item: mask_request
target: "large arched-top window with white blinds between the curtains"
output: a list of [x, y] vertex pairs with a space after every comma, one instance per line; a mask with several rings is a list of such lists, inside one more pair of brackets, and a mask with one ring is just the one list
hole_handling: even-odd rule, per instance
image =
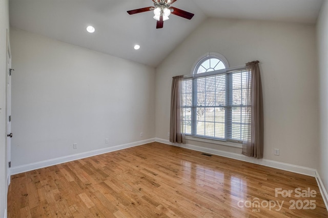
[[248, 120], [250, 72], [229, 71], [222, 60], [202, 59], [181, 84], [182, 131], [186, 135], [242, 141]]

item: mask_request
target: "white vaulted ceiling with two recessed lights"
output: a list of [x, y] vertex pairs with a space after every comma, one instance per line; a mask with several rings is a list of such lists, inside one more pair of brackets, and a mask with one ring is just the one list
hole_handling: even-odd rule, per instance
[[[177, 0], [172, 6], [194, 13], [170, 15], [156, 29], [152, 0], [10, 0], [10, 25], [50, 38], [156, 67], [208, 17], [316, 23], [323, 0]], [[92, 25], [90, 34], [86, 27]], [[206, 34], [206, 33], [204, 33]], [[139, 44], [139, 50], [133, 46]]]

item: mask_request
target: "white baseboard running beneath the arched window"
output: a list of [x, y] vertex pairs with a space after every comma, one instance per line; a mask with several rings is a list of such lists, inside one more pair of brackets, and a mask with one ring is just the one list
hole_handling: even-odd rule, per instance
[[236, 159], [236, 160], [255, 163], [255, 164], [259, 164], [259, 165], [263, 165], [263, 166], [269, 166], [269, 167], [273, 167], [273, 168], [277, 168], [277, 169], [283, 169], [284, 171], [290, 171], [293, 173], [308, 175], [308, 176], [312, 176], [312, 177], [316, 176], [316, 169], [313, 169], [313, 168], [293, 165], [293, 164], [289, 164], [289, 163], [282, 163], [282, 162], [267, 160], [267, 159], [255, 159], [255, 158], [244, 156], [242, 154], [236, 154], [236, 153], [232, 153], [232, 152], [225, 152], [225, 151], [220, 151], [220, 150], [216, 150], [216, 149], [194, 146], [193, 144], [177, 144], [177, 143], [172, 143], [169, 140], [161, 139], [161, 138], [155, 138], [155, 141], [165, 143], [165, 144], [170, 144], [172, 146], [176, 146], [176, 147], [180, 147], [180, 148], [186, 148], [186, 149], [190, 149], [190, 150], [194, 150], [194, 151], [205, 152], [205, 153], [214, 154], [214, 155], [218, 155], [218, 156], [222, 156], [222, 157], [228, 157], [228, 158], [232, 158], [232, 159]]

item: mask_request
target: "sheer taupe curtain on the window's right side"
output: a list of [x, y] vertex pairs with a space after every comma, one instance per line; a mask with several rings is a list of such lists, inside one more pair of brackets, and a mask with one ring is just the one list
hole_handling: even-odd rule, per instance
[[247, 140], [243, 141], [242, 154], [257, 159], [263, 158], [263, 96], [260, 77], [259, 61], [252, 61], [246, 64], [247, 70], [250, 72], [249, 85], [251, 86], [248, 94], [248, 101], [251, 105], [247, 109], [248, 117], [251, 122], [251, 128], [245, 128], [244, 133], [248, 135]]

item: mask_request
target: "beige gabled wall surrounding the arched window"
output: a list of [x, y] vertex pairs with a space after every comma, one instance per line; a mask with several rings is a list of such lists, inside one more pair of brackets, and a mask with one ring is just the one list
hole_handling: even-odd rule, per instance
[[[172, 76], [189, 75], [208, 52], [230, 66], [259, 60], [264, 100], [264, 159], [316, 168], [318, 96], [315, 26], [210, 18], [156, 68], [156, 137], [168, 139]], [[239, 148], [187, 141], [241, 153]], [[280, 149], [280, 156], [274, 149]]]

